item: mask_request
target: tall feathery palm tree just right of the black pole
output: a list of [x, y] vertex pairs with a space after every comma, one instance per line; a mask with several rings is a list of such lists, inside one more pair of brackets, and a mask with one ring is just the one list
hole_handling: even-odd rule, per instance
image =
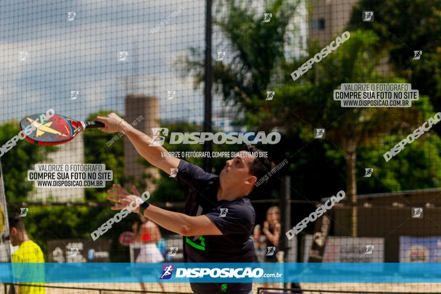
[[[213, 24], [231, 41], [226, 52], [226, 60], [231, 62], [212, 63], [213, 86], [238, 110], [250, 111], [256, 102], [262, 101], [266, 97], [262, 90], [267, 89], [274, 74], [286, 63], [285, 44], [290, 43], [287, 27], [298, 4], [299, 1], [265, 1], [265, 11], [271, 12], [272, 18], [263, 23], [264, 15], [257, 13], [253, 1], [219, 2]], [[190, 48], [190, 55], [180, 63], [183, 75], [194, 75], [195, 88], [203, 83], [205, 65], [201, 51]]]

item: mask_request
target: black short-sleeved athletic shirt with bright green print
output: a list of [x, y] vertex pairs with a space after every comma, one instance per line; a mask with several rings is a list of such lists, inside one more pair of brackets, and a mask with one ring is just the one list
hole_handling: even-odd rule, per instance
[[[184, 212], [206, 215], [223, 235], [183, 237], [186, 262], [254, 262], [254, 243], [250, 238], [256, 213], [250, 199], [217, 201], [219, 176], [180, 160], [176, 179], [190, 189]], [[225, 210], [228, 209], [228, 211]], [[220, 216], [222, 213], [222, 217]], [[248, 294], [252, 283], [190, 283], [197, 294]]]

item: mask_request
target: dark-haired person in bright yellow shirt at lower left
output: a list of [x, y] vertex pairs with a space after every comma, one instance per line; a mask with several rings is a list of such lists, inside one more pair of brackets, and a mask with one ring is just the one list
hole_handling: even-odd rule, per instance
[[[9, 217], [9, 235], [11, 244], [19, 246], [19, 249], [12, 254], [12, 262], [38, 262], [42, 266], [26, 266], [14, 267], [14, 276], [20, 280], [23, 271], [26, 270], [26, 276], [32, 278], [44, 277], [44, 262], [43, 252], [39, 245], [34, 243], [26, 232], [25, 224], [18, 213], [12, 214]], [[30, 272], [31, 271], [31, 272]], [[33, 285], [44, 285], [44, 283], [30, 283]], [[45, 294], [45, 287], [33, 287], [27, 285], [19, 285], [17, 287], [18, 294]]]

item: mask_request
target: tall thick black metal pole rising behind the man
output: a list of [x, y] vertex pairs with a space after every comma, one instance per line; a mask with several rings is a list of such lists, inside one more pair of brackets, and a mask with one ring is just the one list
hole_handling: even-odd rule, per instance
[[[205, 109], [204, 109], [204, 132], [211, 132], [211, 0], [206, 0], [205, 13]], [[212, 142], [208, 141], [203, 144], [203, 151], [209, 152], [213, 150]], [[207, 172], [211, 172], [211, 157], [203, 157], [203, 168]]]

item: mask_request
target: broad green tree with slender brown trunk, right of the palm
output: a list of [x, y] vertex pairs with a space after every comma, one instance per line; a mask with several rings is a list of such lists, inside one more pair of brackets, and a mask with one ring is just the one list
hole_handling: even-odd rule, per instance
[[[320, 63], [314, 64], [297, 83], [287, 83], [277, 90], [278, 103], [272, 107], [262, 104], [258, 112], [250, 113], [254, 121], [263, 117], [262, 124], [289, 129], [293, 122], [303, 126], [301, 137], [313, 140], [312, 129], [324, 127], [327, 143], [334, 145], [343, 153], [346, 165], [347, 199], [356, 202], [357, 198], [357, 148], [378, 142], [383, 134], [397, 132], [403, 125], [422, 122], [434, 112], [426, 97], [414, 102], [411, 111], [399, 108], [342, 108], [340, 102], [333, 100], [333, 91], [342, 83], [403, 83], [401, 79], [382, 77], [375, 72], [378, 66], [378, 53], [371, 50], [378, 38], [372, 32], [351, 33], [343, 48], [333, 52]], [[309, 52], [320, 52], [313, 45]], [[312, 55], [303, 62], [312, 58]], [[383, 150], [383, 153], [387, 151]], [[358, 162], [359, 163], [359, 162]], [[359, 163], [360, 164], [360, 163]], [[353, 211], [353, 232], [356, 236], [356, 209]]]

